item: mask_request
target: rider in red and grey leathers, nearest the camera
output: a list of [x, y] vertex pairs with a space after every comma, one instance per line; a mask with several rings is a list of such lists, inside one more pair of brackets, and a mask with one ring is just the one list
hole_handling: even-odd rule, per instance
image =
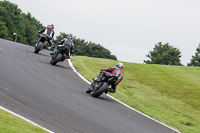
[[99, 77], [101, 77], [101, 75], [110, 75], [110, 76], [115, 76], [117, 78], [115, 83], [111, 84], [111, 88], [108, 88], [107, 92], [105, 92], [106, 94], [109, 92], [111, 93], [115, 93], [116, 89], [117, 89], [117, 85], [122, 81], [123, 77], [124, 77], [124, 64], [121, 62], [118, 62], [116, 64], [116, 66], [112, 66], [109, 68], [104, 68], [101, 69], [100, 74], [93, 80], [91, 86], [88, 88], [88, 90], [86, 91], [87, 93], [90, 93], [93, 91], [93, 87], [94, 87], [94, 82], [96, 80], [98, 80]]

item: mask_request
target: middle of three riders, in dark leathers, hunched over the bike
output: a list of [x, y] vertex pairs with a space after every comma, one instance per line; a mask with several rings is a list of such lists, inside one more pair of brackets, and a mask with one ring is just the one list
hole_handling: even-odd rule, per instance
[[[58, 49], [59, 49], [60, 47], [64, 46], [65, 43], [71, 45], [70, 55], [73, 55], [73, 54], [74, 54], [74, 43], [73, 43], [73, 40], [72, 40], [72, 37], [71, 37], [71, 36], [68, 36], [67, 38], [64, 38], [64, 39], [62, 39], [60, 42], [58, 42], [58, 43], [56, 44], [56, 46], [55, 46], [54, 52], [53, 52], [53, 53], [50, 53], [50, 55], [56, 54], [56, 52], [58, 51]], [[68, 52], [67, 59], [70, 58], [70, 55], [69, 55], [69, 52]]]

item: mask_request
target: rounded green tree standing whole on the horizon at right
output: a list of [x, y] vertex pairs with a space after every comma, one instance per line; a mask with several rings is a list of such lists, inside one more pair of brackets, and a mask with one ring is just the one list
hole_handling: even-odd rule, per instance
[[146, 55], [150, 60], [144, 62], [146, 64], [181, 65], [180, 54], [179, 49], [170, 46], [168, 43], [163, 45], [159, 42], [155, 45], [153, 51]]

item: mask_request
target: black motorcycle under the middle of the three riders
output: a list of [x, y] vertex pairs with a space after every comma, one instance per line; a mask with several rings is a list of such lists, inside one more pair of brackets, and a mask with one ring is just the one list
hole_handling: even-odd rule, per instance
[[56, 65], [58, 62], [63, 62], [66, 58], [69, 59], [69, 51], [71, 49], [71, 44], [64, 44], [57, 48], [57, 51], [52, 54], [50, 63]]

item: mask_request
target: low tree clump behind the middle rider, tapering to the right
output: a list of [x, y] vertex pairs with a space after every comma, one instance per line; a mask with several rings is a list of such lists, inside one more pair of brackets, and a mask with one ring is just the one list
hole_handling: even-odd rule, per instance
[[104, 48], [102, 45], [92, 42], [85, 42], [85, 40], [76, 38], [71, 34], [60, 33], [60, 35], [56, 37], [56, 40], [54, 40], [54, 43], [57, 44], [59, 41], [61, 41], [63, 38], [67, 38], [69, 35], [73, 37], [76, 55], [117, 60], [117, 57], [115, 55], [111, 55], [110, 50]]

